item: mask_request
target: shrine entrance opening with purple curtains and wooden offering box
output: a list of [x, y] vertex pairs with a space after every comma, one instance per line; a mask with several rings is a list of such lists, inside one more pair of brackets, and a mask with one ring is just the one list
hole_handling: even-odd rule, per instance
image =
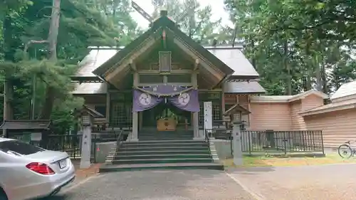
[[198, 90], [194, 87], [156, 85], [135, 88], [133, 111], [138, 112], [139, 129], [156, 127], [157, 131], [189, 129], [192, 112], [199, 112]]

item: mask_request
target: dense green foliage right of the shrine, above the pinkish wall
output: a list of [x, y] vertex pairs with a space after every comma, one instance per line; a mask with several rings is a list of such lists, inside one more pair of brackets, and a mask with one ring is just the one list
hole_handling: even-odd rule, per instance
[[311, 88], [330, 93], [355, 80], [355, 3], [225, 0], [246, 56], [274, 95]]

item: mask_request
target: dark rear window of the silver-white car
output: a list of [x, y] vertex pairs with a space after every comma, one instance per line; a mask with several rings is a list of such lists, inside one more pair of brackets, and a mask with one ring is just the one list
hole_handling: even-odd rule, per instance
[[29, 155], [43, 152], [44, 149], [18, 140], [7, 140], [0, 142], [0, 151], [15, 155]]

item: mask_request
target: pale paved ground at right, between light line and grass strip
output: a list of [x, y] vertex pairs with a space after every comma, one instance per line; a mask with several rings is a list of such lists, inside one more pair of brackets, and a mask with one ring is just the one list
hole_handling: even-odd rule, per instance
[[[356, 164], [230, 169], [244, 188], [262, 199], [354, 199]], [[356, 197], [355, 197], [356, 199]]]

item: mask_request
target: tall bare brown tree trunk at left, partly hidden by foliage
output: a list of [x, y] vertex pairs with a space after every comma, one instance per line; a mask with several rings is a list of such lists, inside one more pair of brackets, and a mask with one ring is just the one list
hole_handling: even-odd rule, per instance
[[[48, 33], [48, 60], [53, 63], [57, 61], [57, 36], [59, 28], [59, 18], [61, 11], [61, 0], [53, 0], [52, 14], [51, 14], [51, 24]], [[51, 117], [51, 112], [53, 110], [53, 102], [56, 95], [55, 88], [51, 85], [47, 85], [46, 88], [46, 99], [41, 112], [42, 120], [49, 120]]]

